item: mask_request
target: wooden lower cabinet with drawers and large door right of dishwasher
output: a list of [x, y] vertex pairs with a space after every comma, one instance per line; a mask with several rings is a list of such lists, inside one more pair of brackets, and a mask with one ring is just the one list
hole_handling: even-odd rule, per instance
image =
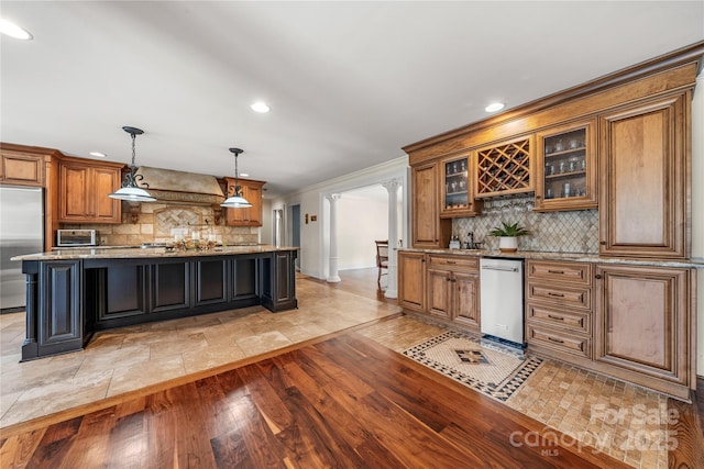
[[694, 277], [685, 268], [528, 260], [529, 348], [689, 400]]

